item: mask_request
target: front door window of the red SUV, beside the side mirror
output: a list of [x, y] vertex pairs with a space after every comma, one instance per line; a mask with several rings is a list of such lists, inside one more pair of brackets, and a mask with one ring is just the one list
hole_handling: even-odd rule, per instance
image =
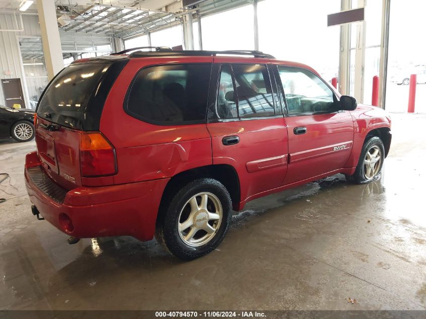
[[334, 111], [333, 91], [308, 70], [278, 67], [288, 113]]

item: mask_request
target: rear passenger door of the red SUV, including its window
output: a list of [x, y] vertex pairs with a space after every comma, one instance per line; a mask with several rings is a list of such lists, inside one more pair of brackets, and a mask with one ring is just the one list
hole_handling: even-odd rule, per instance
[[265, 61], [226, 63], [228, 59], [215, 57], [207, 129], [213, 164], [235, 168], [245, 201], [281, 186], [287, 170], [287, 128]]

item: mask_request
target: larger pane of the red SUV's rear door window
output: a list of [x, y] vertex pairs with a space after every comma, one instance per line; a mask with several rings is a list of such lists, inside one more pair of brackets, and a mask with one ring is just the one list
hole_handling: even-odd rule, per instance
[[264, 65], [232, 65], [240, 117], [274, 115], [271, 82]]

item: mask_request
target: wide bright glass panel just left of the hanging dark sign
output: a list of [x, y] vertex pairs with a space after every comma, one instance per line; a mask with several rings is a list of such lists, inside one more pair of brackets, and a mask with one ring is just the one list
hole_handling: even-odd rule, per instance
[[259, 2], [259, 49], [306, 63], [331, 81], [339, 72], [340, 28], [327, 27], [327, 15], [339, 11], [340, 0]]

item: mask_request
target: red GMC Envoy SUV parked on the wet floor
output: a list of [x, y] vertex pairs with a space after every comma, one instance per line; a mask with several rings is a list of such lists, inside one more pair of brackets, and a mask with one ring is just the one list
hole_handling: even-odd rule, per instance
[[231, 210], [343, 173], [377, 179], [385, 111], [259, 51], [126, 51], [74, 61], [37, 107], [33, 214], [76, 239], [131, 235], [194, 259]]

